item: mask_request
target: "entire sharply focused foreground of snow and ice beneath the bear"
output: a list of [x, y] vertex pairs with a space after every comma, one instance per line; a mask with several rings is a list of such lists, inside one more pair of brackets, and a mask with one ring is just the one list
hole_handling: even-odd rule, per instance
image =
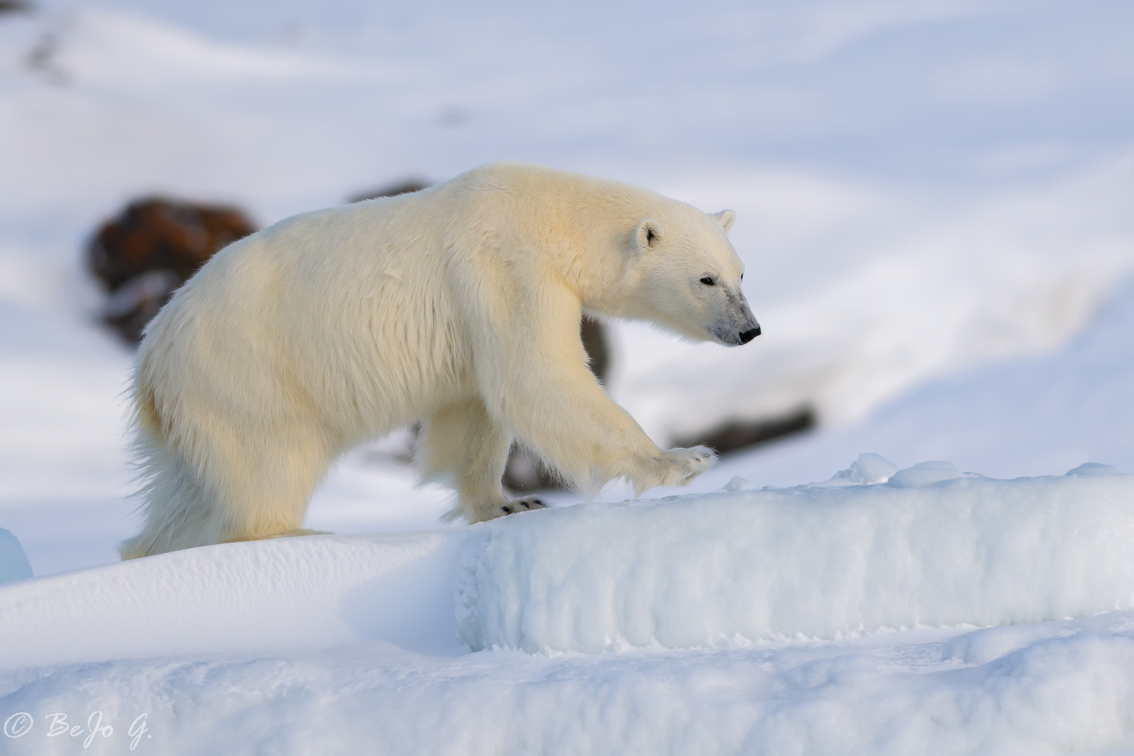
[[1134, 746], [1134, 476], [729, 489], [2, 586], [7, 753]]

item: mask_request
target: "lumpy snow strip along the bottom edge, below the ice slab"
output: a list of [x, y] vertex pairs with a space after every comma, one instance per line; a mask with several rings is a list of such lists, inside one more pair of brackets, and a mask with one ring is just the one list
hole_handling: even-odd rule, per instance
[[[699, 651], [117, 661], [0, 677], [10, 756], [1055, 756], [1134, 745], [1134, 613]], [[53, 712], [79, 724], [69, 749]], [[135, 729], [135, 732], [137, 729]], [[54, 746], [54, 750], [52, 749]]]

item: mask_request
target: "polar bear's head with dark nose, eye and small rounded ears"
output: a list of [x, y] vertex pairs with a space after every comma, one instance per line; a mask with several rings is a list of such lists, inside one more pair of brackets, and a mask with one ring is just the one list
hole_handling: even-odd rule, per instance
[[667, 211], [665, 222], [643, 218], [634, 229], [638, 316], [697, 341], [752, 341], [760, 323], [741, 291], [744, 264], [726, 236], [736, 213], [709, 215], [688, 205]]

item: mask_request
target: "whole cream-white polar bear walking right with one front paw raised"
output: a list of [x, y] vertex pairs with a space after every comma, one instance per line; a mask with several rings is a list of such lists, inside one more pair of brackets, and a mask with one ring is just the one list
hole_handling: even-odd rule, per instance
[[486, 520], [519, 439], [592, 493], [679, 485], [704, 448], [662, 450], [603, 391], [583, 311], [736, 346], [760, 334], [734, 213], [613, 181], [497, 163], [413, 194], [280, 221], [214, 255], [150, 323], [132, 388], [144, 525], [124, 559], [307, 533], [342, 451], [422, 423], [423, 478]]

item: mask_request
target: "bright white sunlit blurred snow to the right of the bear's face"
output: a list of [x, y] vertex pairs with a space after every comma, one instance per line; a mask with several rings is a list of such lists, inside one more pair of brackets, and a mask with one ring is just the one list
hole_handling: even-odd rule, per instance
[[[1057, 348], [1129, 274], [1129, 231], [1118, 233], [1124, 240], [1110, 231], [1100, 238], [1102, 228], [1117, 227], [1097, 212], [1111, 192], [1132, 193], [1131, 168], [1128, 156], [1116, 158], [1067, 184], [971, 203], [919, 196], [915, 187], [836, 192], [812, 181], [792, 203], [810, 205], [810, 219], [777, 216], [776, 205], [787, 201], [768, 199], [790, 178], [718, 189], [716, 204], [736, 205], [741, 219], [733, 236], [752, 271], [745, 281], [752, 279], [750, 301], [764, 331], [759, 348], [662, 347], [648, 326], [623, 326], [617, 339], [626, 357], [612, 393], [663, 439], [804, 406], [837, 426], [931, 377]], [[1114, 211], [1114, 221], [1129, 219], [1125, 209]], [[742, 227], [746, 219], [761, 236], [746, 237], [758, 230]], [[830, 229], [830, 237], [798, 228], [805, 224]]]

